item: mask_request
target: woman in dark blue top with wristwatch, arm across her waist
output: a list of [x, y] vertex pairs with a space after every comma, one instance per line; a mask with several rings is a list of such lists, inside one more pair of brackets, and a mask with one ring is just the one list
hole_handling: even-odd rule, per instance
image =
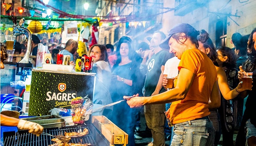
[[[111, 97], [113, 102], [122, 100], [123, 95], [132, 96], [139, 92], [140, 70], [135, 61], [135, 51], [131, 43], [122, 40], [117, 46], [117, 61], [112, 68]], [[128, 136], [128, 145], [134, 146], [135, 109], [126, 102], [114, 105], [112, 119]]]

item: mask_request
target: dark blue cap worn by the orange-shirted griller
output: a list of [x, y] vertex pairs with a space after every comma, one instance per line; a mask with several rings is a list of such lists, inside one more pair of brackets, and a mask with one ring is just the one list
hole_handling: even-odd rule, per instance
[[169, 31], [167, 37], [161, 42], [159, 46], [163, 49], [167, 49], [167, 50], [170, 49], [169, 47], [170, 38], [173, 36], [173, 34], [180, 33], [180, 32], [192, 33], [195, 35], [195, 37], [197, 37], [197, 35], [199, 34], [198, 31], [193, 26], [187, 23], [180, 23], [173, 26], [173, 28]]

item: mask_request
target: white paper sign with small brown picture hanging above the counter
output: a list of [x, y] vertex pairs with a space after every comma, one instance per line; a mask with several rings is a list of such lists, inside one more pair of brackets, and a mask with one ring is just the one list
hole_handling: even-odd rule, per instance
[[78, 37], [77, 21], [64, 21], [66, 37]]

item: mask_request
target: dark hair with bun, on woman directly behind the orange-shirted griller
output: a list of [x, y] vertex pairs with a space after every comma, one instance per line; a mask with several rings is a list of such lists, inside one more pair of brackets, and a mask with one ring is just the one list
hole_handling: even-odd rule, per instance
[[197, 39], [203, 44], [204, 48], [210, 48], [210, 52], [207, 54], [207, 56], [211, 59], [213, 63], [216, 62], [218, 54], [216, 52], [216, 48], [212, 43], [211, 38], [209, 37], [209, 34], [204, 29], [202, 29], [199, 31]]

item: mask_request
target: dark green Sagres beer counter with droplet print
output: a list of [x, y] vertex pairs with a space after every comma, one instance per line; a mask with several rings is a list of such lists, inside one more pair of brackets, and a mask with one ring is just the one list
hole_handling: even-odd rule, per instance
[[49, 115], [53, 108], [71, 108], [71, 99], [93, 101], [95, 73], [32, 70], [29, 116]]

